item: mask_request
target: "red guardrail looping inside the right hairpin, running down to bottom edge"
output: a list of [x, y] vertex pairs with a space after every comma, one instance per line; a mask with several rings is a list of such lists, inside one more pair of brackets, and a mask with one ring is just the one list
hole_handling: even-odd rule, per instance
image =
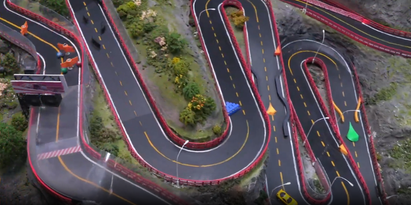
[[[318, 101], [320, 102], [321, 108], [322, 108], [323, 111], [325, 112], [325, 115], [328, 116], [328, 117], [330, 117], [331, 115], [330, 115], [327, 107], [325, 106], [324, 101], [323, 101], [322, 98], [321, 98], [320, 92], [318, 91], [318, 89], [317, 89], [317, 87], [316, 87], [316, 85], [315, 85], [314, 79], [312, 78], [312, 76], [311, 76], [311, 74], [310, 74], [310, 72], [309, 72], [309, 70], [308, 70], [308, 68], [307, 68], [307, 62], [309, 62], [309, 60], [312, 60], [312, 59], [313, 59], [312, 57], [307, 58], [307, 60], [305, 61], [305, 64], [304, 64], [304, 71], [305, 71], [305, 73], [306, 73], [306, 76], [307, 76], [307, 78], [308, 78], [308, 81], [309, 81], [309, 84], [310, 84], [312, 90], [314, 91], [314, 93], [315, 93]], [[319, 62], [319, 61], [316, 61], [316, 63], [318, 63], [318, 62]], [[321, 69], [322, 69], [323, 72], [324, 72], [324, 77], [327, 79], [327, 78], [328, 78], [328, 73], [326, 72], [327, 68], [325, 67], [325, 64], [324, 64], [324, 63], [322, 63], [322, 64], [320, 63], [320, 64], [318, 64], [318, 65], [319, 65], [320, 67], [323, 66], [323, 67], [321, 67]], [[326, 81], [327, 81], [327, 80], [326, 80]], [[327, 87], [327, 95], [328, 95], [328, 94], [331, 94], [331, 90], [330, 90], [330, 87], [329, 87], [329, 83], [328, 83], [328, 87]], [[331, 96], [331, 95], [330, 95], [330, 96], [327, 96], [327, 98], [329, 99], [329, 101], [332, 102], [332, 96]], [[335, 122], [335, 115], [334, 115], [334, 117], [330, 117], [328, 120], [330, 121], [330, 125], [331, 125], [331, 127], [332, 127], [332, 130], [333, 130], [333, 132], [335, 133], [335, 136], [337, 136], [337, 139], [339, 140], [340, 144], [342, 144], [344, 147], [347, 147], [346, 144], [345, 144], [345, 142], [344, 142], [344, 140], [343, 140], [343, 138], [342, 138], [341, 135], [340, 135], [339, 129], [337, 128], [337, 122]], [[348, 160], [350, 161], [351, 166], [352, 166], [354, 172], [356, 172], [356, 175], [357, 175], [357, 177], [359, 178], [359, 180], [360, 180], [360, 182], [361, 182], [361, 185], [362, 185], [363, 188], [364, 188], [365, 194], [367, 195], [367, 199], [368, 199], [369, 203], [371, 204], [371, 196], [370, 196], [370, 194], [369, 194], [369, 190], [368, 190], [368, 187], [367, 187], [367, 185], [366, 185], [366, 183], [365, 183], [365, 180], [364, 180], [364, 178], [363, 178], [360, 170], [359, 170], [358, 167], [357, 167], [356, 162], [355, 162], [354, 159], [352, 158], [352, 155], [351, 155], [351, 153], [350, 153], [350, 151], [349, 151], [348, 149], [347, 149], [347, 152], [348, 152], [348, 154], [347, 154]]]

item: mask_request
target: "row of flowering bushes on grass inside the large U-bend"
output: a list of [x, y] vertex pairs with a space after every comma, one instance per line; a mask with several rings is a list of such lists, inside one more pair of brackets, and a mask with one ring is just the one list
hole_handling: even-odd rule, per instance
[[156, 11], [147, 9], [146, 0], [113, 1], [117, 12], [135, 39], [141, 39], [147, 50], [147, 64], [157, 73], [169, 76], [175, 92], [184, 96], [188, 105], [180, 112], [185, 126], [203, 123], [216, 110], [213, 98], [200, 93], [198, 82], [190, 75], [191, 65], [182, 57], [188, 45], [177, 32], [171, 32]]

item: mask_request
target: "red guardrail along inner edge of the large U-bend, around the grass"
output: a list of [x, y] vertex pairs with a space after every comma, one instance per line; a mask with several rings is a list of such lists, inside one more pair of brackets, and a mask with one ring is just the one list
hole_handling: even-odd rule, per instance
[[[139, 78], [140, 85], [141, 85], [142, 89], [144, 90], [144, 92], [145, 92], [145, 94], [146, 94], [146, 96], [147, 96], [147, 98], [148, 98], [148, 101], [150, 101], [150, 105], [151, 105], [151, 107], [153, 108], [153, 110], [155, 111], [156, 116], [157, 116], [157, 119], [160, 121], [160, 124], [162, 125], [165, 133], [166, 133], [167, 136], [169, 136], [177, 145], [182, 146], [182, 145], [184, 144], [185, 140], [182, 139], [181, 137], [179, 137], [178, 135], [176, 135], [176, 133], [174, 133], [174, 132], [171, 130], [171, 128], [167, 125], [167, 122], [165, 121], [164, 117], [162, 116], [160, 110], [159, 110], [158, 107], [157, 107], [156, 101], [155, 101], [154, 98], [151, 96], [150, 91], [148, 91], [146, 85], [144, 84], [143, 77], [141, 76], [140, 71], [139, 71], [139, 69], [137, 68], [137, 64], [135, 63], [135, 61], [134, 61], [132, 55], [130, 54], [130, 52], [128, 51], [127, 46], [126, 46], [126, 44], [124, 43], [124, 39], [122, 38], [120, 32], [118, 31], [118, 28], [117, 28], [116, 24], [114, 23], [114, 20], [113, 20], [113, 18], [111, 17], [110, 13], [108, 12], [107, 7], [106, 7], [104, 1], [102, 2], [102, 7], [103, 7], [103, 10], [105, 11], [105, 13], [106, 13], [106, 15], [107, 15], [110, 23], [111, 23], [111, 26], [114, 28], [115, 32], [116, 32], [117, 35], [118, 35], [118, 38], [119, 38], [119, 40], [120, 40], [120, 42], [121, 42], [121, 45], [122, 45], [122, 47], [124, 48], [124, 50], [125, 50], [125, 52], [126, 52], [126, 56], [127, 56], [128, 59], [130, 60], [130, 62], [132, 62], [132, 66], [133, 66], [134, 70], [135, 70], [136, 73], [137, 73], [137, 77]], [[207, 53], [207, 52], [204, 52], [204, 53]], [[206, 55], [207, 55], [207, 54], [206, 54]], [[210, 62], [209, 62], [209, 65], [211, 65]], [[215, 80], [215, 76], [214, 76], [213, 72], [211, 72], [211, 73], [212, 73], [213, 78], [214, 78], [214, 80]], [[216, 84], [214, 84], [214, 85], [215, 85], [215, 87], [216, 87], [217, 92], [219, 92], [219, 95], [218, 95], [218, 96], [220, 97], [221, 106], [222, 106], [222, 110], [223, 110], [223, 114], [224, 114], [224, 119], [225, 119], [225, 122], [226, 122], [226, 125], [227, 125], [227, 126], [226, 126], [226, 129], [225, 129], [224, 132], [221, 134], [221, 136], [219, 136], [219, 137], [217, 137], [217, 138], [215, 138], [215, 139], [213, 139], [213, 140], [211, 140], [211, 141], [208, 141], [208, 142], [189, 142], [188, 144], [186, 144], [186, 145], [184, 146], [184, 147], [186, 147], [186, 148], [191, 148], [191, 149], [210, 149], [210, 148], [213, 148], [213, 147], [216, 147], [216, 146], [220, 145], [221, 142], [222, 142], [223, 140], [225, 140], [226, 137], [228, 136], [228, 133], [229, 133], [228, 130], [229, 130], [229, 127], [230, 127], [230, 119], [229, 119], [229, 116], [228, 116], [228, 113], [227, 113], [227, 110], [226, 110], [225, 102], [222, 100], [220, 90], [218, 89], [218, 86], [217, 86]], [[116, 114], [114, 113], [114, 115], [116, 115]], [[124, 135], [124, 136], [125, 136], [125, 135]], [[126, 139], [126, 140], [127, 140], [127, 139]], [[134, 152], [134, 151], [133, 151], [133, 152]]]

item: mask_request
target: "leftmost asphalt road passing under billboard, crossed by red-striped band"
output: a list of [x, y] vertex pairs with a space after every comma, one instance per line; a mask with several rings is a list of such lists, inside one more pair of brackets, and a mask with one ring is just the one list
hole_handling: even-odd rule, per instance
[[[0, 6], [2, 24], [20, 32], [20, 25], [28, 23], [27, 38], [42, 58], [44, 74], [60, 74], [62, 61], [55, 57], [58, 43], [76, 47], [77, 52], [67, 57], [79, 56], [79, 46], [73, 39], [52, 31], [34, 19]], [[81, 58], [81, 55], [79, 56]], [[29, 157], [34, 172], [54, 191], [74, 200], [91, 200], [100, 204], [135, 204], [135, 202], [172, 204], [128, 181], [117, 172], [109, 171], [102, 162], [88, 158], [83, 152], [38, 159], [38, 154], [71, 148], [78, 145], [78, 92], [80, 69], [74, 67], [65, 79], [69, 87], [60, 108], [32, 108], [28, 134]], [[111, 190], [111, 193], [110, 193]]]

